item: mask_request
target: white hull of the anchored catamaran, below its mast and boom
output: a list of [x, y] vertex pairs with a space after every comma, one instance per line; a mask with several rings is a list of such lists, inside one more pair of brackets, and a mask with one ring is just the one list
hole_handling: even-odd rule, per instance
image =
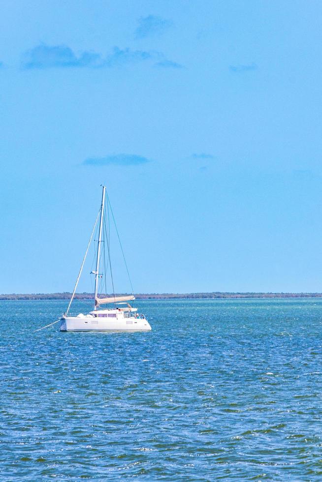
[[63, 317], [60, 325], [61, 331], [151, 331], [151, 326], [146, 319], [128, 318], [93, 318], [93, 316]]

